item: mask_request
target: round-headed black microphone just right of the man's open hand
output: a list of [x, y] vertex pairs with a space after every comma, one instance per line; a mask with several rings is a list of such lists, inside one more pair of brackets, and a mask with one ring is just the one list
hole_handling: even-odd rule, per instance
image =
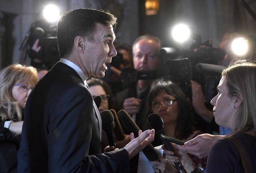
[[[170, 142], [162, 140], [161, 135], [165, 135], [164, 127], [163, 127], [163, 119], [160, 117], [158, 113], [152, 113], [148, 116], [148, 124], [151, 128], [155, 129], [156, 134], [160, 137], [162, 143], [164, 144], [165, 148], [169, 151], [174, 151], [173, 146]], [[180, 162], [174, 163], [176, 168], [178, 169], [179, 173], [184, 173], [182, 168], [182, 164]]]

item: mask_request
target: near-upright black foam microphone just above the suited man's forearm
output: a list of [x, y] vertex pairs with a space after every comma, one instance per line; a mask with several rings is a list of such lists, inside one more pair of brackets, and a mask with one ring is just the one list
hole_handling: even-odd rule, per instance
[[100, 114], [102, 120], [102, 129], [106, 131], [108, 137], [109, 146], [115, 147], [113, 138], [113, 129], [115, 127], [114, 116], [109, 110], [104, 110]]

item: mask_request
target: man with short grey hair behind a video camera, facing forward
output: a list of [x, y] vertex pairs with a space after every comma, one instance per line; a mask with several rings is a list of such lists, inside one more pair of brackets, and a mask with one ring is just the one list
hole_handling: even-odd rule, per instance
[[[159, 51], [161, 42], [159, 38], [152, 35], [138, 37], [133, 46], [134, 68], [141, 70], [158, 70], [161, 66]], [[149, 87], [154, 80], [138, 80], [135, 87], [136, 95], [129, 95], [128, 89], [117, 93], [117, 109], [125, 109], [141, 128], [145, 124], [145, 119], [141, 117], [141, 111], [145, 106], [145, 100]], [[138, 115], [138, 116], [137, 116]]]

